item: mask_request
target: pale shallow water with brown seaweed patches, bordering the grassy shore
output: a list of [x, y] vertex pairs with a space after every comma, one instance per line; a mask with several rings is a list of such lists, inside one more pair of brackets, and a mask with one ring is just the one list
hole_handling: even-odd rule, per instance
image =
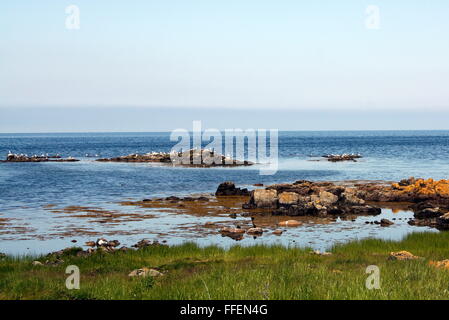
[[[344, 218], [266, 216], [260, 210], [254, 222], [264, 229], [263, 235], [245, 235], [236, 241], [222, 236], [219, 230], [225, 226], [252, 225], [251, 218], [244, 216], [247, 211], [242, 209], [247, 198], [195, 196], [206, 196], [209, 201], [153, 199], [142, 202], [140, 199], [124, 199], [101, 208], [48, 204], [43, 208], [47, 213], [45, 219], [24, 207], [21, 208], [22, 215], [0, 214], [0, 252], [19, 255], [47, 253], [69, 246], [85, 247], [86, 241], [100, 237], [117, 239], [124, 246], [149, 239], [167, 244], [189, 241], [201, 246], [222, 247], [276, 244], [328, 250], [338, 243], [369, 237], [401, 240], [412, 232], [438, 232], [429, 227], [410, 226], [407, 221], [413, 217], [413, 212], [405, 210], [403, 204], [393, 207], [383, 204], [382, 213], [378, 216]], [[382, 218], [392, 220], [394, 225], [381, 227], [367, 223]], [[280, 221], [289, 219], [299, 220], [302, 225], [294, 228], [277, 226]], [[274, 235], [272, 232], [277, 229], [283, 230], [283, 234]]]

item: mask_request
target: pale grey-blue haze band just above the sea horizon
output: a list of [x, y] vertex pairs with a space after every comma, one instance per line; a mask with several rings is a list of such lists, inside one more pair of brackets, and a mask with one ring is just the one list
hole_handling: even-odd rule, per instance
[[449, 110], [0, 106], [0, 132], [161, 132], [204, 128], [449, 130]]

